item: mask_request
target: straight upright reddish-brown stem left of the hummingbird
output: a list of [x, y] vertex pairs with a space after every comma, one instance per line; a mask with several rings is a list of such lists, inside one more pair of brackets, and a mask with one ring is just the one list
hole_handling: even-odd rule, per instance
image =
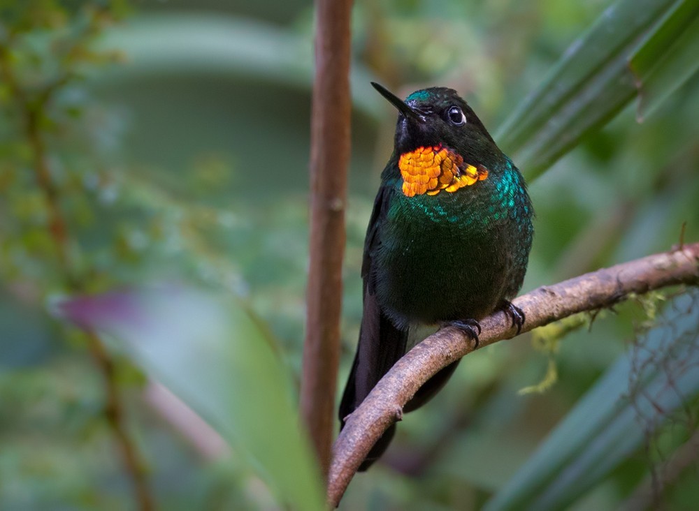
[[317, 0], [311, 112], [310, 266], [301, 415], [324, 474], [333, 437], [340, 360], [342, 263], [349, 163], [351, 0]]

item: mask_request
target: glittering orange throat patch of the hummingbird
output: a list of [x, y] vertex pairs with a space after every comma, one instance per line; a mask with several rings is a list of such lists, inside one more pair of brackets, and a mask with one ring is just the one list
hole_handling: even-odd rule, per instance
[[441, 146], [418, 147], [401, 154], [398, 168], [403, 176], [403, 195], [437, 195], [470, 186], [488, 177], [488, 169], [464, 163], [454, 151]]

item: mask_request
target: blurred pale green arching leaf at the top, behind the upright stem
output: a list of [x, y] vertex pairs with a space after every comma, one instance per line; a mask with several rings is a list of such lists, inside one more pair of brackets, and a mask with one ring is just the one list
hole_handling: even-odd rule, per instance
[[[310, 34], [242, 17], [201, 13], [143, 15], [107, 31], [100, 48], [122, 54], [124, 63], [115, 66], [112, 73], [95, 75], [98, 80], [129, 75], [217, 73], [303, 89], [310, 89], [312, 84]], [[369, 85], [375, 77], [362, 64], [355, 63], [350, 80], [354, 103], [367, 114], [380, 112], [380, 96]]]

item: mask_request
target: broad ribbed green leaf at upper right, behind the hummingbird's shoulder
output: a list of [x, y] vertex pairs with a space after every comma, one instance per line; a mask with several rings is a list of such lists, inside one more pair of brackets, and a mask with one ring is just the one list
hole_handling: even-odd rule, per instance
[[[676, 18], [668, 15], [675, 10], [689, 11], [691, 17], [684, 20], [689, 26], [696, 17], [696, 2], [618, 0], [568, 47], [545, 82], [521, 103], [496, 136], [528, 179], [540, 175], [585, 135], [606, 124], [637, 94], [638, 77], [631, 72], [629, 60], [639, 45], [643, 55], [651, 56], [654, 62], [668, 59], [668, 67], [674, 69], [675, 58], [670, 55], [675, 52], [675, 40], [684, 32], [668, 28], [674, 24], [664, 21], [674, 22]], [[688, 30], [686, 34], [686, 42], [677, 44], [681, 50], [693, 48], [699, 40], [699, 31]], [[696, 65], [689, 69], [696, 71]], [[655, 80], [654, 86], [660, 90], [654, 90], [652, 96], [665, 97], [665, 91], [675, 89], [687, 73], [693, 71], [676, 76], [670, 83]]]

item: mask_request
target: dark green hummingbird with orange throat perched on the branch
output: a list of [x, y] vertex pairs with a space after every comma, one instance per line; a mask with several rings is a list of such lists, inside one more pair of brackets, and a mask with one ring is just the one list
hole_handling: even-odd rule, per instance
[[[524, 281], [534, 231], [524, 177], [456, 91], [431, 87], [402, 101], [371, 84], [398, 110], [398, 122], [364, 241], [363, 313], [340, 429], [405, 354], [412, 329], [453, 325], [477, 348], [478, 320], [499, 309], [519, 333], [524, 313], [510, 300]], [[457, 364], [428, 380], [403, 412], [429, 401]], [[360, 471], [383, 454], [395, 429]]]

